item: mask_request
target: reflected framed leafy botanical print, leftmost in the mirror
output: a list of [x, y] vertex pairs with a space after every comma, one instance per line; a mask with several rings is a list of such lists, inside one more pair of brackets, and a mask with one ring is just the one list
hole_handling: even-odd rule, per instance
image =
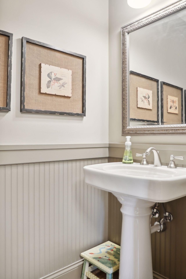
[[159, 80], [130, 71], [130, 121], [159, 124]]

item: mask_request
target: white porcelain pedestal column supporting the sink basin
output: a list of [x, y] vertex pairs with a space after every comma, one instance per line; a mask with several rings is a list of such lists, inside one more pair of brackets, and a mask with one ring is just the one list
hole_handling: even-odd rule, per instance
[[153, 279], [150, 214], [152, 201], [113, 193], [122, 204], [119, 279]]

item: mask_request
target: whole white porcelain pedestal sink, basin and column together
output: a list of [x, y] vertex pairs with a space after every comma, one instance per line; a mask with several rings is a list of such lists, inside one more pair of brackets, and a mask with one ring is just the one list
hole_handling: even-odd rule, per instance
[[119, 279], [153, 279], [151, 206], [186, 195], [186, 169], [117, 162], [86, 166], [84, 176], [88, 185], [112, 192], [122, 204]]

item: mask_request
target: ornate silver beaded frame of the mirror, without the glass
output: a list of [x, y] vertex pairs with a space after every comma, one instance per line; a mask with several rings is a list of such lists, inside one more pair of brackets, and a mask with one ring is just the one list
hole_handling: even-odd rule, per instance
[[158, 10], [121, 28], [121, 59], [122, 59], [122, 135], [126, 134], [158, 134], [178, 135], [186, 133], [186, 124], [129, 126], [129, 33], [142, 28], [152, 22], [167, 17], [186, 8], [186, 0], [175, 3]]

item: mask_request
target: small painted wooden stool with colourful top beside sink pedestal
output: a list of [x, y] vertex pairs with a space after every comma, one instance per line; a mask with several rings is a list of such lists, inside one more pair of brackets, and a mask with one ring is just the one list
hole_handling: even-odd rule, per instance
[[[84, 258], [81, 279], [100, 279], [92, 273], [99, 268], [106, 273], [106, 279], [112, 279], [113, 273], [119, 269], [120, 246], [110, 241], [102, 243], [81, 253]], [[92, 264], [89, 267], [89, 264]]]

